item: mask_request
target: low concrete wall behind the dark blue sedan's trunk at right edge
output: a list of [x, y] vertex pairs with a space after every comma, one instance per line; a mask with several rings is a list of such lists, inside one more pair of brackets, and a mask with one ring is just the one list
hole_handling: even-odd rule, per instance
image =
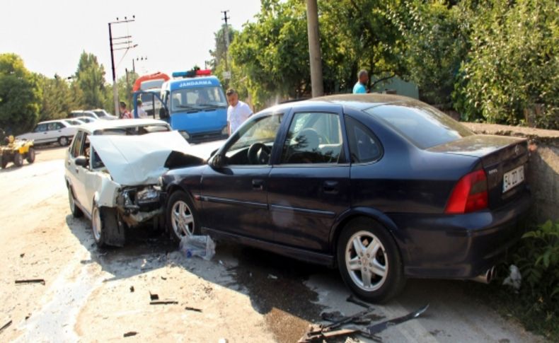
[[559, 221], [559, 131], [496, 124], [463, 124], [478, 134], [529, 139], [531, 156], [527, 179], [535, 200], [534, 216], [538, 223], [548, 219]]

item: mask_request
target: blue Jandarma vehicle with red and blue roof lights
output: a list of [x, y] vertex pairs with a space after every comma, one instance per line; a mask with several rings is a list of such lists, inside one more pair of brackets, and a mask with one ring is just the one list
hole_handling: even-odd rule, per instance
[[134, 92], [134, 117], [137, 117], [138, 112], [137, 99], [145, 99], [146, 96], [154, 97], [152, 103], [156, 103], [156, 99], [161, 101], [159, 119], [171, 124], [190, 143], [215, 141], [229, 136], [227, 100], [221, 83], [207, 70], [173, 73], [173, 79], [161, 85], [159, 95], [153, 91]]

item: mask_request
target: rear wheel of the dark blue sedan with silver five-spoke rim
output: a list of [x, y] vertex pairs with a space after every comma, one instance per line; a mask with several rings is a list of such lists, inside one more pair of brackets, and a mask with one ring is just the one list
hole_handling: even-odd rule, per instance
[[377, 221], [347, 223], [338, 239], [337, 258], [345, 284], [365, 301], [384, 303], [405, 286], [398, 246]]

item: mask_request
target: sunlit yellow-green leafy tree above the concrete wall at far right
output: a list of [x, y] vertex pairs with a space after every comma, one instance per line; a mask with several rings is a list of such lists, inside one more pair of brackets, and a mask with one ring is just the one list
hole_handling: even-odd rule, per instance
[[464, 119], [559, 129], [557, 1], [463, 3], [471, 49], [454, 101]]

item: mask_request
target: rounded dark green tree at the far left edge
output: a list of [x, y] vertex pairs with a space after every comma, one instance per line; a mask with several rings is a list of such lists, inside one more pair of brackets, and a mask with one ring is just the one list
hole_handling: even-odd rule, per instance
[[0, 54], [0, 127], [19, 134], [33, 128], [42, 99], [38, 76], [16, 54]]

